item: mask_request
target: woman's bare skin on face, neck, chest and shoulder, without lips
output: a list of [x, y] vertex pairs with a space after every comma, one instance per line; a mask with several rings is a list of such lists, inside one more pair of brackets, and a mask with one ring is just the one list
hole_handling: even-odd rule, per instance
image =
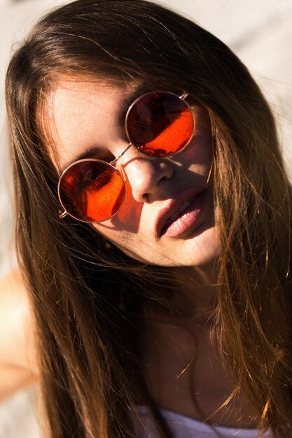
[[[46, 106], [46, 134], [59, 171], [96, 143], [102, 144], [105, 157], [118, 156], [125, 150], [128, 142], [117, 120], [122, 99], [132, 92], [133, 88], [125, 91], [109, 85], [105, 90], [104, 83], [86, 84], [84, 80], [64, 78], [57, 83]], [[169, 313], [158, 305], [144, 309], [146, 332], [142, 351], [153, 400], [160, 407], [190, 418], [253, 428], [255, 413], [240, 397], [232, 402], [232, 409], [217, 411], [232, 392], [232, 378], [226, 375], [219, 358], [212, 317], [216, 307], [213, 284], [216, 283], [218, 247], [212, 190], [206, 182], [211, 164], [211, 129], [207, 112], [198, 105], [193, 106], [193, 111], [197, 122], [193, 148], [186, 148], [174, 160], [164, 161], [141, 157], [137, 150], [130, 148], [120, 162], [130, 186], [125, 209], [112, 220], [93, 226], [125, 253], [138, 260], [173, 267], [176, 276], [184, 279], [171, 299], [176, 311]], [[70, 143], [72, 138], [74, 143]], [[100, 151], [94, 157], [101, 158]], [[194, 164], [188, 166], [186, 172], [184, 167], [190, 162]], [[185, 187], [178, 188], [180, 184]], [[148, 226], [152, 218], [174, 190], [181, 193], [186, 185], [192, 184], [206, 184], [208, 190], [204, 210], [195, 225], [205, 225], [203, 231], [194, 236], [190, 229], [189, 234], [176, 239], [155, 236], [151, 225]], [[132, 212], [131, 216], [127, 211]], [[141, 244], [143, 255], [137, 251]], [[38, 372], [33, 347], [34, 325], [18, 271], [0, 283], [0, 290], [4, 291], [0, 297], [2, 330], [8, 332], [10, 338], [8, 341], [1, 337], [0, 344], [0, 381], [9, 381], [8, 388], [6, 384], [3, 388], [0, 386], [3, 400], [36, 381]], [[15, 306], [18, 318], [13, 317]]]

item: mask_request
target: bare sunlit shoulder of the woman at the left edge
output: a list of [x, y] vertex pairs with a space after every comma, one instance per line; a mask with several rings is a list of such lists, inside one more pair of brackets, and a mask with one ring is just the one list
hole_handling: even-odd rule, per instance
[[32, 309], [20, 269], [0, 280], [0, 400], [36, 381]]

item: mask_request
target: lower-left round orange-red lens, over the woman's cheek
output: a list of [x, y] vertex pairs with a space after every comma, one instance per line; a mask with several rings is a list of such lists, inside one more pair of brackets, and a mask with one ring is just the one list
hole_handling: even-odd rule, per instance
[[81, 160], [62, 174], [59, 197], [64, 209], [78, 220], [102, 222], [118, 213], [125, 200], [125, 183], [111, 165]]

